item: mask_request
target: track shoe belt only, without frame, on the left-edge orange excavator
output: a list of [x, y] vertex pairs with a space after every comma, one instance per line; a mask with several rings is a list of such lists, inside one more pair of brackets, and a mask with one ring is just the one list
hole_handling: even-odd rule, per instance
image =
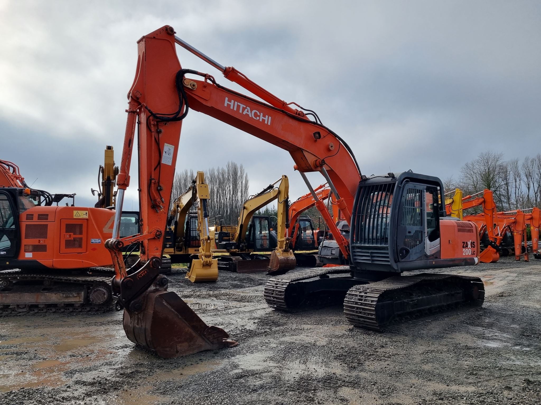
[[[89, 272], [96, 273], [109, 273], [110, 276], [93, 276], [93, 275], [64, 275], [64, 274], [43, 274], [43, 273], [26, 273], [21, 270], [3, 270], [0, 271], [0, 281], [3, 278], [8, 278], [10, 280], [16, 278], [18, 281], [24, 280], [49, 280], [57, 282], [67, 282], [74, 284], [105, 284], [111, 291], [111, 281], [113, 279], [114, 269], [113, 267], [91, 267]], [[112, 292], [111, 292], [112, 293]], [[12, 315], [33, 315], [36, 313], [45, 313], [45, 312], [71, 312], [71, 313], [80, 313], [80, 312], [101, 312], [107, 311], [111, 308], [111, 301], [105, 305], [82, 305], [81, 307], [64, 307], [58, 308], [55, 304], [48, 304], [45, 308], [35, 308], [30, 307], [28, 311], [19, 312], [15, 308], [0, 308], [0, 316], [12, 316]]]

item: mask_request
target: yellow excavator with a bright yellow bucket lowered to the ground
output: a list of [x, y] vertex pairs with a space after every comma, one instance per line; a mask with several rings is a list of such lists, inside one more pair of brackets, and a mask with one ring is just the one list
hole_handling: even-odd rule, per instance
[[[163, 253], [172, 263], [190, 263], [186, 278], [192, 282], [218, 279], [217, 260], [210, 251], [209, 198], [204, 173], [197, 172], [188, 190], [175, 199], [167, 220]], [[194, 205], [196, 212], [190, 212]]]

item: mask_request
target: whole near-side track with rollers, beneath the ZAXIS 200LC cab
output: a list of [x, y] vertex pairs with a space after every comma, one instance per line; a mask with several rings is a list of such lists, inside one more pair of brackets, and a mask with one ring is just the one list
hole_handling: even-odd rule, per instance
[[485, 287], [478, 277], [423, 273], [354, 286], [344, 299], [344, 313], [355, 326], [382, 330], [419, 315], [480, 307], [484, 299]]

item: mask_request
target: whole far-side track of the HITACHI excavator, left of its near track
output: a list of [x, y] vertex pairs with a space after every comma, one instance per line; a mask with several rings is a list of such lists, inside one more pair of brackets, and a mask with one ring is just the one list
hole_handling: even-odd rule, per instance
[[[331, 269], [308, 268], [294, 273], [274, 276], [265, 284], [263, 296], [269, 307], [281, 309], [282, 311], [294, 311], [317, 292], [319, 280], [328, 279], [329, 274], [350, 273], [351, 270], [348, 266], [339, 266]], [[353, 280], [352, 277], [337, 279], [340, 282], [351, 283], [351, 286], [357, 284], [357, 281]], [[347, 291], [347, 288], [342, 289], [342, 291]]]

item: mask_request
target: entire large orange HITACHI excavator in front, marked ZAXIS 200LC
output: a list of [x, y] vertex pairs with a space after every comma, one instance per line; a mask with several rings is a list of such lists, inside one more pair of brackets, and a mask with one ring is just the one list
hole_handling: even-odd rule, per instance
[[[263, 101], [223, 87], [208, 73], [183, 69], [176, 44]], [[200, 78], [188, 78], [188, 74]], [[292, 104], [196, 50], [175, 36], [171, 26], [138, 40], [117, 177], [113, 237], [106, 244], [113, 257], [113, 287], [124, 307], [124, 330], [130, 340], [166, 357], [235, 344], [222, 329], [207, 327], [178, 295], [167, 292], [168, 280], [159, 274], [181, 125], [189, 109], [288, 151], [334, 235], [335, 224], [304, 174], [321, 172], [351, 227], [349, 240], [340, 238], [338, 232], [335, 235], [350, 267], [309, 269], [269, 279], [265, 299], [272, 307], [288, 310], [313, 294], [342, 294], [350, 322], [380, 329], [403, 316], [482, 304], [484, 286], [479, 278], [440, 273], [400, 275], [478, 262], [477, 227], [446, 217], [439, 203], [444, 201], [441, 181], [411, 171], [362, 176], [344, 139], [323, 125], [313, 111]], [[120, 238], [121, 208], [130, 184], [136, 139], [141, 233]], [[141, 260], [127, 269], [121, 249], [132, 242], [142, 245]]]

